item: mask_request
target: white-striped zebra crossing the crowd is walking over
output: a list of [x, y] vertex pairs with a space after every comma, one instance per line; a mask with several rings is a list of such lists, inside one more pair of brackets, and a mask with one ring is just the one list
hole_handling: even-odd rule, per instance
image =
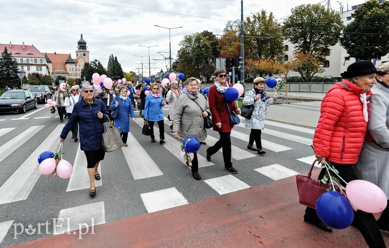
[[[39, 111], [39, 110], [37, 110]], [[28, 116], [23, 115], [22, 117], [16, 118], [18, 120], [26, 119]], [[44, 119], [41, 118], [32, 118], [32, 119]], [[37, 120], [37, 121], [38, 121]], [[120, 167], [122, 170], [121, 173], [126, 174], [127, 183], [133, 184], [134, 187], [138, 187], [135, 197], [138, 197], [137, 202], [141, 203], [144, 213], [156, 212], [159, 210], [170, 209], [182, 205], [189, 204], [194, 200], [191, 198], [191, 191], [196, 191], [196, 185], [199, 185], [195, 181], [188, 171], [185, 171], [182, 175], [187, 176], [184, 178], [184, 181], [187, 182], [188, 187], [182, 187], [182, 185], [175, 185], [174, 179], [164, 179], [169, 176], [182, 177], [179, 172], [183, 171], [181, 169], [174, 168], [174, 173], [172, 169], [167, 168], [166, 165], [161, 164], [158, 157], [156, 158], [154, 154], [154, 149], [158, 149], [159, 153], [163, 153], [163, 156], [169, 158], [172, 164], [181, 164], [185, 170], [190, 170], [186, 166], [185, 162], [182, 161], [180, 157], [180, 145], [182, 141], [180, 139], [174, 138], [170, 134], [169, 126], [171, 121], [166, 117], [164, 118], [165, 125], [165, 141], [163, 145], [158, 144], [159, 140], [159, 128], [158, 125], [154, 127], [154, 134], [157, 137], [157, 142], [152, 144], [149, 140], [150, 137], [141, 135], [141, 128], [143, 126], [143, 119], [136, 118], [135, 123], [131, 120], [131, 133], [128, 134], [127, 144], [128, 147], [122, 147], [120, 150], [117, 150], [112, 153], [106, 153], [105, 160], [101, 161], [99, 166], [99, 173], [101, 175], [101, 180], [95, 181], [95, 186], [97, 189], [97, 194], [100, 194], [99, 188], [107, 188], [112, 185], [107, 177], [107, 174], [110, 173], [108, 167]], [[47, 132], [47, 137], [44, 139], [41, 144], [31, 154], [28, 158], [19, 166], [16, 166], [15, 172], [9, 178], [7, 178], [4, 183], [0, 186], [0, 208], [6, 204], [20, 202], [29, 198], [30, 194], [35, 189], [36, 183], [43, 177], [40, 176], [37, 167], [37, 157], [43, 151], [54, 151], [59, 142], [59, 134], [61, 133], [65, 124], [58, 124], [50, 131]], [[1, 126], [0, 126], [1, 127]], [[17, 151], [25, 142], [31, 141], [37, 135], [39, 131], [44, 129], [45, 125], [36, 125], [25, 128], [24, 130], [18, 131], [20, 127], [6, 127], [0, 128], [0, 137], [7, 136], [12, 137], [8, 138], [9, 141], [1, 143], [0, 146], [0, 162], [6, 159], [11, 153]], [[301, 158], [293, 158], [295, 163], [301, 165], [301, 168], [297, 172], [291, 168], [288, 168], [287, 163], [268, 163], [263, 162], [262, 156], [259, 156], [254, 151], [246, 149], [249, 138], [249, 130], [244, 129], [244, 123], [237, 125], [238, 128], [234, 128], [231, 131], [231, 138], [236, 140], [233, 142], [232, 150], [232, 159], [236, 160], [234, 166], [238, 169], [238, 174], [229, 174], [223, 170], [222, 163], [223, 160], [220, 159], [222, 151], [219, 151], [219, 157], [212, 156], [212, 162], [208, 161], [205, 158], [205, 149], [201, 149], [198, 152], [197, 157], [199, 160], [199, 172], [204, 177], [202, 182], [202, 189], [207, 189], [210, 195], [222, 195], [230, 192], [241, 191], [248, 189], [256, 184], [253, 184], [252, 181], [246, 180], [247, 176], [245, 173], [242, 173], [240, 165], [246, 164], [245, 161], [250, 159], [257, 159], [259, 162], [254, 163], [255, 168], [247, 169], [251, 170], [250, 174], [258, 174], [269, 178], [269, 180], [281, 180], [283, 178], [294, 176], [301, 172], [306, 172], [309, 169], [309, 165], [315, 160], [315, 156], [304, 156]], [[274, 130], [276, 129], [276, 130]], [[284, 132], [280, 131], [283, 130]], [[289, 134], [290, 131], [293, 131], [293, 134]], [[267, 134], [268, 137], [277, 137], [281, 141], [270, 141], [262, 139], [263, 148], [268, 151], [268, 158], [272, 156], [276, 157], [277, 154], [289, 153], [296, 149], [296, 147], [304, 146], [306, 150], [309, 151], [309, 147], [312, 144], [313, 129], [302, 128], [299, 126], [283, 124], [273, 121], [265, 121], [265, 129], [263, 134]], [[299, 135], [301, 134], [301, 135]], [[308, 138], [311, 137], [311, 138]], [[208, 137], [206, 139], [207, 145], [212, 146], [219, 139], [217, 132], [210, 130], [208, 132]], [[68, 139], [71, 140], [71, 139]], [[73, 143], [66, 140], [64, 147], [67, 147], [69, 151], [75, 153], [75, 156], [72, 160], [69, 160], [73, 165], [73, 172], [70, 179], [59, 179], [62, 180], [64, 188], [58, 189], [63, 194], [65, 193], [77, 193], [82, 191], [82, 194], [87, 194], [86, 192], [89, 189], [89, 178], [88, 172], [86, 169], [86, 157], [83, 151], [80, 150], [79, 143]], [[71, 140], [72, 141], [72, 140]], [[147, 144], [145, 145], [145, 142]], [[150, 143], [149, 143], [150, 142]], [[204, 145], [202, 145], [204, 146]], [[160, 152], [163, 151], [163, 152]], [[274, 155], [273, 155], [274, 154]], [[308, 153], [309, 154], [309, 153]], [[312, 153], [311, 153], [312, 154]], [[120, 163], [112, 162], [117, 161], [116, 157], [122, 157]], [[67, 159], [68, 160], [68, 159]], [[181, 161], [181, 162], [178, 162]], [[265, 163], [265, 164], [264, 164]], [[216, 172], [213, 172], [216, 171]], [[178, 174], [175, 174], [178, 173]], [[212, 174], [215, 173], [215, 174]], [[247, 173], [247, 172], [246, 172]], [[227, 174], [227, 175], [226, 175]], [[173, 176], [173, 177], [174, 177]], [[177, 179], [178, 180], [178, 179]], [[163, 181], [167, 181], [166, 185], [160, 186]], [[155, 185], [155, 190], [142, 190], [141, 183], [148, 182], [150, 185]], [[153, 183], [154, 182], [154, 183]], [[160, 188], [158, 188], [160, 187]], [[204, 188], [205, 187], [205, 188]], [[152, 188], [152, 187], [150, 187]], [[129, 190], [132, 190], [129, 188]], [[139, 192], [138, 192], [139, 191]], [[44, 199], [42, 199], [44, 200]], [[89, 200], [89, 198], [88, 198]], [[64, 232], [69, 232], [73, 230], [79, 230], [80, 225], [85, 224], [88, 227], [104, 224], [109, 222], [109, 214], [107, 212], [107, 204], [113, 204], [112, 202], [104, 201], [104, 198], [99, 198], [97, 201], [92, 201], [90, 204], [75, 203], [75, 206], [71, 208], [60, 209], [57, 211], [55, 216], [48, 216], [50, 218], [66, 219], [67, 222], [63, 223], [62, 226], [57, 226], [53, 234], [60, 234]], [[134, 199], [125, 199], [127, 201], [132, 201]], [[112, 209], [112, 207], [111, 207]], [[141, 208], [142, 209], [142, 208]], [[51, 211], [49, 211], [51, 212]], [[52, 213], [51, 213], [52, 214]], [[13, 237], [14, 223], [15, 220], [13, 217], [5, 217], [0, 214], [0, 245], [2, 240], [10, 240]]]

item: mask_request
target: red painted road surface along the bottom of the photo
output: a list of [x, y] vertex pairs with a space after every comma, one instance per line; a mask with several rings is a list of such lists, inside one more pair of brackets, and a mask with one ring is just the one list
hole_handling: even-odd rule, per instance
[[[95, 226], [95, 234], [86, 234], [83, 239], [77, 239], [78, 233], [61, 234], [15, 247], [367, 247], [354, 227], [328, 233], [304, 223], [304, 210], [293, 176]], [[389, 233], [382, 233], [389, 245]]]

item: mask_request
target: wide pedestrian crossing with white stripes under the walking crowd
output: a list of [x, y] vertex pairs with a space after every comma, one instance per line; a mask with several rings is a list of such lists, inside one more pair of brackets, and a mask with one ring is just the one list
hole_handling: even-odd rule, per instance
[[[34, 113], [40, 110], [42, 109], [38, 109]], [[10, 211], [7, 207], [9, 204], [22, 203], [26, 200], [30, 200], [29, 204], [32, 204], [30, 195], [34, 193], [36, 197], [36, 192], [41, 190], [36, 185], [38, 183], [53, 183], [53, 181], [46, 180], [50, 175], [44, 176], [39, 173], [37, 157], [43, 151], [54, 151], [56, 149], [59, 144], [59, 134], [65, 123], [60, 124], [58, 118], [56, 118], [57, 116], [54, 115], [34, 116], [34, 113], [18, 118], [12, 118], [11, 115], [3, 116], [7, 121], [27, 121], [29, 127], [2, 127], [5, 122], [1, 122], [0, 137], [7, 137], [6, 140], [9, 141], [0, 143], [0, 162], [17, 153], [18, 149], [23, 148], [26, 142], [32, 142], [38, 133], [41, 134], [39, 131], [45, 130], [47, 137], [43, 142], [36, 144], [36, 148], [31, 150], [31, 154], [23, 163], [14, 165], [15, 171], [12, 175], [0, 181], [0, 246], [19, 242], [15, 241], [13, 237], [16, 230], [14, 227], [17, 221], [20, 222], [20, 219], [16, 220], [14, 214], [4, 213], [2, 210]], [[167, 115], [167, 113], [165, 114]], [[35, 121], [39, 122], [39, 125], [33, 125]], [[41, 124], [48, 122], [55, 123], [50, 125]], [[130, 120], [131, 132], [128, 134], [128, 147], [106, 153], [106, 158], [101, 161], [99, 173], [102, 179], [95, 181], [97, 195], [94, 199], [89, 199], [87, 194], [89, 178], [85, 154], [80, 150], [79, 142], [73, 142], [69, 138], [69, 134], [65, 140], [64, 149], [66, 150], [65, 154], [68, 153], [66, 160], [73, 165], [72, 175], [69, 179], [56, 178], [60, 183], [57, 186], [47, 185], [47, 187], [58, 187], [56, 191], [61, 194], [76, 193], [85, 196], [85, 199], [79, 203], [76, 201], [73, 203], [74, 206], [70, 208], [60, 209], [60, 206], [58, 206], [59, 209], [56, 210], [56, 214], [51, 213], [46, 216], [47, 219], [61, 218], [67, 220], [61, 228], [56, 227], [51, 234], [77, 230], [80, 224], [90, 227], [119, 218], [117, 216], [110, 217], [113, 212], [107, 211], [107, 206], [110, 206], [109, 209], [115, 209], [115, 201], [104, 199], [103, 196], [98, 198], [100, 193], [108, 191], [113, 185], [119, 183], [116, 179], [112, 179], [114, 176], [110, 175], [114, 173], [114, 170], [120, 171], [116, 173], [123, 175], [123, 178], [125, 178], [121, 182], [127, 185], [129, 191], [134, 191], [131, 198], [124, 198], [121, 201], [139, 203], [137, 205], [139, 210], [136, 214], [141, 214], [190, 204], [196, 200], [204, 199], [204, 197], [248, 189], [260, 184], [257, 182], [259, 181], [258, 178], [267, 178], [265, 182], [270, 182], [294, 176], [308, 171], [309, 165], [315, 159], [311, 155], [313, 153], [310, 148], [314, 129], [266, 120], [262, 143], [267, 154], [261, 156], [255, 151], [246, 149], [250, 131], [244, 128], [244, 123], [240, 123], [231, 132], [232, 160], [234, 167], [239, 171], [238, 174], [230, 174], [223, 170], [222, 150], [212, 156], [212, 162], [205, 158], [206, 148], [212, 146], [219, 139], [217, 132], [208, 130], [207, 145], [201, 145], [197, 153], [199, 173], [203, 177], [198, 182], [192, 178], [190, 168], [180, 157], [182, 140], [176, 139], [170, 134], [171, 121], [166, 117], [164, 123], [166, 143], [159, 145], [158, 125], [154, 127], [156, 143], [151, 143], [149, 136], [141, 134], [143, 119], [138, 117], [135, 123]], [[301, 149], [307, 152], [301, 153]], [[27, 152], [28, 150], [24, 151]], [[298, 152], [296, 154], [305, 155], [293, 157], [291, 154], [295, 152]], [[156, 156], [156, 154], [163, 155]], [[288, 157], [289, 162], [284, 159], [285, 157]], [[273, 159], [277, 161], [273, 162]], [[292, 163], [291, 160], [293, 160]], [[7, 161], [9, 163], [9, 159]], [[181, 166], [170, 166], [169, 164]], [[293, 164], [293, 166], [289, 168], [289, 164]], [[100, 190], [101, 188], [103, 190]], [[197, 196], [194, 191], [199, 194], [201, 192], [206, 193], [205, 196]], [[110, 195], [115, 194], [112, 189], [109, 192]], [[45, 201], [45, 199], [40, 199], [40, 201]], [[28, 235], [25, 237], [25, 240], [30, 239], [31, 237]], [[20, 240], [23, 240], [23, 238]], [[4, 243], [1, 243], [2, 241]]]

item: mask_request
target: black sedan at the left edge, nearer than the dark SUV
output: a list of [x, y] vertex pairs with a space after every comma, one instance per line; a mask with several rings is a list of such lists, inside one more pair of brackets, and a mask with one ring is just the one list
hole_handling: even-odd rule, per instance
[[10, 90], [0, 95], [0, 113], [26, 113], [38, 108], [35, 95], [24, 90]]

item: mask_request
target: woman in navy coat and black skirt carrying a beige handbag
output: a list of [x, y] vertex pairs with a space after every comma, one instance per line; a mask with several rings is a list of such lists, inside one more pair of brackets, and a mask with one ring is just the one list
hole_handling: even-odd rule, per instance
[[73, 112], [68, 123], [62, 129], [59, 141], [63, 143], [66, 136], [78, 122], [80, 127], [80, 148], [84, 151], [88, 163], [89, 196], [93, 197], [96, 195], [94, 179], [101, 179], [97, 168], [105, 155], [101, 144], [101, 134], [105, 131], [103, 122], [108, 120], [108, 111], [104, 102], [93, 96], [94, 91], [90, 84], [84, 84], [81, 92], [83, 97], [80, 102], [73, 106]]

